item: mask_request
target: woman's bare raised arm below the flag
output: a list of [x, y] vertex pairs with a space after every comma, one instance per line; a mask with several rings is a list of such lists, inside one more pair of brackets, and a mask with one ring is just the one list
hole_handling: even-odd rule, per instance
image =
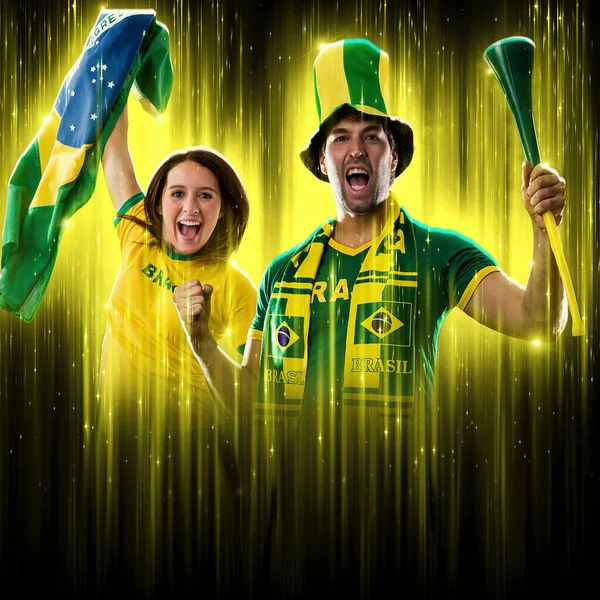
[[108, 140], [106, 140], [102, 153], [104, 179], [106, 180], [110, 199], [117, 212], [129, 198], [142, 191], [129, 153], [128, 126], [129, 118], [127, 106], [125, 106]]

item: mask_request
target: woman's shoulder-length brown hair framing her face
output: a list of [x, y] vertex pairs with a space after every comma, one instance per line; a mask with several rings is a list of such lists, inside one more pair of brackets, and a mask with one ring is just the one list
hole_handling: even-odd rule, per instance
[[144, 227], [153, 238], [151, 243], [163, 247], [165, 245], [162, 236], [163, 220], [162, 215], [158, 212], [158, 207], [161, 204], [169, 172], [186, 161], [202, 165], [215, 175], [219, 182], [222, 202], [222, 217], [217, 221], [217, 225], [206, 244], [194, 256], [203, 258], [207, 262], [226, 261], [238, 249], [242, 241], [242, 236], [248, 224], [250, 206], [246, 190], [233, 165], [222, 154], [212, 148], [194, 146], [169, 154], [160, 163], [148, 184], [148, 190], [144, 198], [146, 221], [121, 214], [117, 217], [128, 219]]

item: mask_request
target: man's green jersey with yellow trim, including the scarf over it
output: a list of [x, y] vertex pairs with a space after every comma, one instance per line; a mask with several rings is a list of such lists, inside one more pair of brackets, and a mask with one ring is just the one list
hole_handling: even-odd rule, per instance
[[433, 394], [440, 329], [464, 309], [494, 259], [472, 240], [400, 207], [352, 250], [328, 222], [277, 257], [259, 289], [251, 336], [262, 341], [257, 416], [405, 419]]

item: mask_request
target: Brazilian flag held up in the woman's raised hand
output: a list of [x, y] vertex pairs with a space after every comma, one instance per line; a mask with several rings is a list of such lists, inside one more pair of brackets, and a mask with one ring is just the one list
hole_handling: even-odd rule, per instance
[[173, 85], [169, 32], [153, 10], [103, 10], [8, 182], [0, 308], [31, 322], [65, 222], [92, 196], [102, 151], [134, 95], [158, 116]]

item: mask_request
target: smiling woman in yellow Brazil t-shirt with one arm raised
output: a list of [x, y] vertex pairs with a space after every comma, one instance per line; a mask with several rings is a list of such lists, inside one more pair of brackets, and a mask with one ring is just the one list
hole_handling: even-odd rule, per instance
[[210, 284], [213, 337], [229, 330], [243, 353], [256, 289], [229, 259], [246, 228], [248, 200], [231, 164], [199, 147], [169, 155], [144, 196], [127, 127], [125, 108], [102, 157], [122, 263], [108, 303], [101, 414], [108, 409], [106, 422], [125, 432], [138, 433], [148, 419], [170, 431], [206, 429], [229, 415], [215, 405], [172, 296], [189, 280]]

